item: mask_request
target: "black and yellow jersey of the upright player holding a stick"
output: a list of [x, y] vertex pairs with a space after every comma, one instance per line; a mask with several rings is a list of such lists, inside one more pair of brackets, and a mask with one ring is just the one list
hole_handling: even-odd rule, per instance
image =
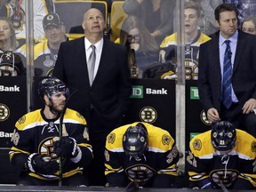
[[[51, 156], [57, 160], [53, 153], [53, 138], [60, 135], [60, 118], [47, 120], [43, 110], [37, 109], [22, 116], [15, 124], [12, 135], [12, 148], [9, 153], [10, 161], [18, 169], [24, 168], [28, 156], [33, 153]], [[78, 164], [69, 159], [63, 160], [63, 178], [82, 173], [84, 164], [92, 160], [92, 146], [89, 143], [89, 134], [84, 116], [76, 111], [67, 108], [62, 125], [62, 135], [72, 137], [76, 140], [77, 146], [82, 151], [82, 159]], [[53, 175], [43, 175], [35, 172], [28, 172], [32, 177], [41, 180], [58, 180], [59, 172]]]

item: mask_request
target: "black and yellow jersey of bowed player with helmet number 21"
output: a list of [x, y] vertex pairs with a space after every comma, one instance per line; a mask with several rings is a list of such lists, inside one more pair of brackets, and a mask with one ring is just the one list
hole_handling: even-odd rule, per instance
[[220, 156], [220, 151], [213, 148], [211, 131], [196, 135], [189, 147], [189, 180], [210, 178], [217, 188], [222, 184], [233, 188], [239, 178], [256, 187], [256, 140], [247, 132], [236, 129], [236, 146], [227, 155]]

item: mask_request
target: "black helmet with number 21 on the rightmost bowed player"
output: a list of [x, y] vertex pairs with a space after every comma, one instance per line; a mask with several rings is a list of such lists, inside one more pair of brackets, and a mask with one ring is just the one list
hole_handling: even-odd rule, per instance
[[212, 124], [212, 145], [219, 151], [226, 151], [236, 145], [236, 129], [228, 121]]

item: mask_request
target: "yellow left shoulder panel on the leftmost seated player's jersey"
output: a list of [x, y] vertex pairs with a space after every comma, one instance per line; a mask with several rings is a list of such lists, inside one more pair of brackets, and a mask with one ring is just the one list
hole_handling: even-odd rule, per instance
[[21, 116], [20, 119], [16, 122], [15, 126], [18, 130], [23, 131], [28, 127], [34, 127], [38, 122], [44, 121], [40, 113], [41, 109], [29, 112], [28, 114]]

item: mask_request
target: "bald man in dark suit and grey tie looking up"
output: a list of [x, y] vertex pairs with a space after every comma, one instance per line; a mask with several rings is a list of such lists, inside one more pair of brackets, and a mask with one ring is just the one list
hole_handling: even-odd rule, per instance
[[[60, 44], [52, 76], [67, 82], [71, 92], [77, 90], [68, 106], [88, 121], [94, 156], [88, 167], [89, 184], [105, 186], [106, 138], [109, 132], [123, 124], [132, 85], [124, 46], [103, 37], [102, 12], [95, 8], [85, 12], [83, 28], [85, 37]], [[93, 66], [95, 68], [91, 68]]]

